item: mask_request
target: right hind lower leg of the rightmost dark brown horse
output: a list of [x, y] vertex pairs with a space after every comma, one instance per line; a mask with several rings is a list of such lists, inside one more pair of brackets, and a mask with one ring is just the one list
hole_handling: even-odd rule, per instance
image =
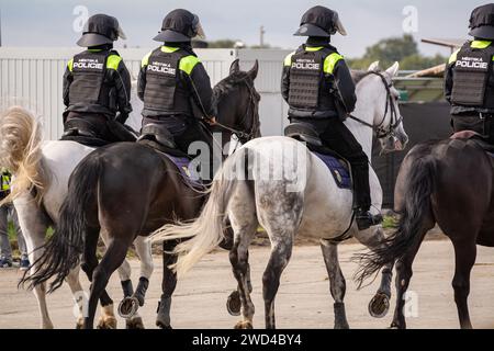
[[468, 236], [464, 239], [452, 240], [454, 247], [454, 278], [452, 287], [454, 290], [454, 303], [458, 308], [458, 317], [462, 329], [472, 329], [470, 321], [468, 297], [470, 294], [470, 272], [476, 258], [475, 241]]

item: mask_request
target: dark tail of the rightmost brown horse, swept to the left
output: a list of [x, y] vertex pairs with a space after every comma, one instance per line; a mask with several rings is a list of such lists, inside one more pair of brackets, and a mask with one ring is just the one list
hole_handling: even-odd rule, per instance
[[386, 238], [383, 246], [357, 256], [360, 268], [356, 279], [360, 285], [382, 267], [402, 259], [423, 238], [425, 220], [431, 212], [430, 195], [436, 190], [438, 163], [434, 156], [424, 156], [413, 159], [407, 169], [404, 204], [396, 231]]

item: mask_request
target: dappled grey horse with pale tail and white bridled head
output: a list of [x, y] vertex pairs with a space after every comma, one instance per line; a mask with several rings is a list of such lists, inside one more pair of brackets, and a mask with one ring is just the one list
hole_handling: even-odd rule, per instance
[[[397, 106], [398, 92], [392, 86], [398, 64], [382, 72], [377, 70], [377, 66], [373, 64], [368, 72], [359, 75], [357, 117], [346, 122], [369, 159], [373, 132], [388, 150], [403, 149], [408, 140]], [[372, 168], [369, 178], [372, 211], [378, 214], [382, 189]], [[254, 304], [250, 299], [248, 248], [261, 225], [271, 241], [271, 257], [262, 276], [266, 327], [274, 328], [274, 297], [280, 275], [289, 263], [294, 238], [316, 237], [321, 239], [335, 299], [335, 328], [348, 328], [344, 305], [346, 283], [338, 263], [337, 244], [353, 235], [372, 248], [381, 245], [384, 238], [381, 226], [358, 230], [352, 222], [352, 192], [339, 189], [325, 163], [304, 144], [288, 137], [263, 137], [247, 143], [226, 160], [216, 173], [211, 196], [195, 222], [164, 226], [153, 239], [192, 237], [176, 249], [180, 257], [175, 269], [181, 275], [218, 245], [223, 239], [225, 218], [229, 218], [234, 231], [229, 259], [238, 281], [243, 314], [236, 328], [251, 328]], [[388, 310], [391, 269], [392, 265], [383, 271], [380, 291], [374, 304], [370, 305], [371, 312], [378, 310], [375, 314]]]

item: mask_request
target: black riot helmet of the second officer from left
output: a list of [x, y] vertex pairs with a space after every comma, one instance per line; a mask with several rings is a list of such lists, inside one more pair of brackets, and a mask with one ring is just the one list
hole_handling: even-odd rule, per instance
[[204, 38], [204, 31], [197, 14], [183, 9], [171, 11], [162, 20], [161, 32], [153, 39], [156, 42], [181, 43], [193, 37]]

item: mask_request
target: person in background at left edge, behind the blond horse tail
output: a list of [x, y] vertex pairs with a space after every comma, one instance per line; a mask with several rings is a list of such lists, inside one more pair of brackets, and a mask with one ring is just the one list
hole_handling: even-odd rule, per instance
[[[11, 174], [5, 170], [1, 170], [0, 201], [5, 199], [10, 193]], [[12, 247], [9, 241], [9, 217], [18, 235], [19, 250], [21, 251], [21, 270], [25, 271], [30, 267], [27, 259], [27, 249], [21, 228], [19, 227], [18, 214], [12, 203], [4, 204], [0, 207], [0, 269], [12, 267]]]

